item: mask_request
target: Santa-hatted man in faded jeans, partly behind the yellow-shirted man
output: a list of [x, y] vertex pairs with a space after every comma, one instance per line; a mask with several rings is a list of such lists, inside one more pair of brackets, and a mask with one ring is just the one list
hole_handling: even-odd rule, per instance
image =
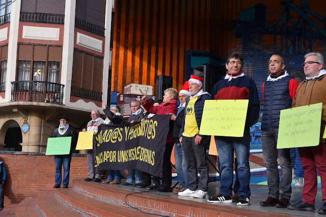
[[174, 158], [175, 158], [175, 167], [178, 175], [178, 181], [180, 188], [176, 193], [183, 192], [188, 188], [188, 174], [187, 174], [187, 161], [185, 159], [184, 151], [182, 145], [179, 141], [180, 129], [184, 120], [184, 108], [185, 108], [185, 99], [191, 96], [189, 92], [189, 83], [185, 82], [182, 90], [179, 92], [179, 101], [180, 105], [178, 110], [171, 116], [171, 120], [174, 121], [172, 136], [175, 141], [174, 145]]

